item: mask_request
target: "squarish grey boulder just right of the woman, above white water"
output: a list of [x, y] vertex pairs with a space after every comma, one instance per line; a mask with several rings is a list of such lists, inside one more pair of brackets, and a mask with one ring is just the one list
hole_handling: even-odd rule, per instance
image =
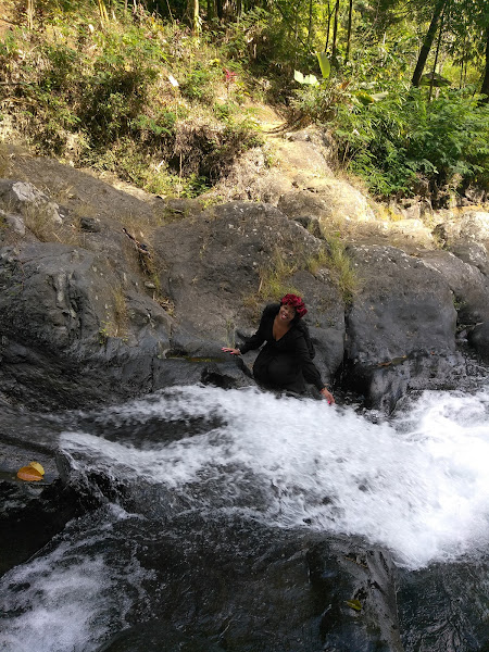
[[350, 253], [360, 288], [347, 323], [347, 384], [388, 411], [410, 388], [455, 386], [456, 311], [443, 276], [393, 247]]

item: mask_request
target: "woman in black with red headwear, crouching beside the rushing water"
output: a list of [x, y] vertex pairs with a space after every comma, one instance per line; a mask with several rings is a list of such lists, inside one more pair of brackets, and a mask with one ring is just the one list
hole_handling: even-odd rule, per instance
[[311, 358], [309, 334], [301, 324], [306, 312], [300, 297], [286, 294], [279, 304], [265, 308], [259, 329], [239, 349], [223, 347], [222, 350], [231, 355], [241, 355], [259, 349], [266, 341], [253, 365], [253, 376], [260, 385], [303, 393], [305, 379], [317, 387], [328, 403], [334, 403], [335, 399], [322, 381]]

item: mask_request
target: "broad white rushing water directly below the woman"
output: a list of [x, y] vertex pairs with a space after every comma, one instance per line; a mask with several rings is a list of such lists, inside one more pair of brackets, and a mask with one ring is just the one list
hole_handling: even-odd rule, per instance
[[[152, 438], [136, 448], [67, 432], [63, 448], [115, 476], [162, 485], [196, 509], [364, 536], [411, 567], [453, 559], [489, 539], [486, 390], [426, 392], [390, 424], [323, 401], [209, 387], [136, 401], [112, 417], [116, 424], [209, 414], [225, 424], [171, 443]], [[250, 487], [260, 488], [265, 506], [253, 504]]]

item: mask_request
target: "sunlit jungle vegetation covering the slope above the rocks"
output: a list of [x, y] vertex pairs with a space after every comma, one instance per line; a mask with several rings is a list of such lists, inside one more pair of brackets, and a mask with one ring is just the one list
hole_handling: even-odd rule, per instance
[[0, 130], [197, 197], [253, 105], [331, 134], [378, 198], [489, 190], [487, 0], [7, 0]]

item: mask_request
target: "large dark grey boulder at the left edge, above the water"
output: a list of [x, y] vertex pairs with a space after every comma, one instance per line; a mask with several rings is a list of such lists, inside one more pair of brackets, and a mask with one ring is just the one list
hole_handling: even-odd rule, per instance
[[216, 378], [243, 384], [229, 361], [172, 355], [174, 319], [124, 261], [57, 243], [0, 252], [0, 391], [32, 408], [120, 400]]

